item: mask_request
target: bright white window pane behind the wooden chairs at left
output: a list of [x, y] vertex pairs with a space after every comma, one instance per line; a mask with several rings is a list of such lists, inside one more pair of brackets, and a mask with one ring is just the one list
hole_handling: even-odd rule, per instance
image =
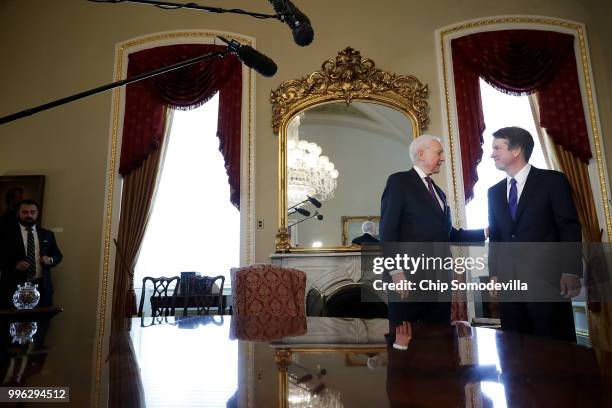
[[[161, 178], [135, 269], [145, 276], [195, 271], [224, 275], [239, 266], [240, 213], [230, 203], [216, 136], [219, 98], [174, 111]], [[140, 293], [138, 293], [140, 295]]]

